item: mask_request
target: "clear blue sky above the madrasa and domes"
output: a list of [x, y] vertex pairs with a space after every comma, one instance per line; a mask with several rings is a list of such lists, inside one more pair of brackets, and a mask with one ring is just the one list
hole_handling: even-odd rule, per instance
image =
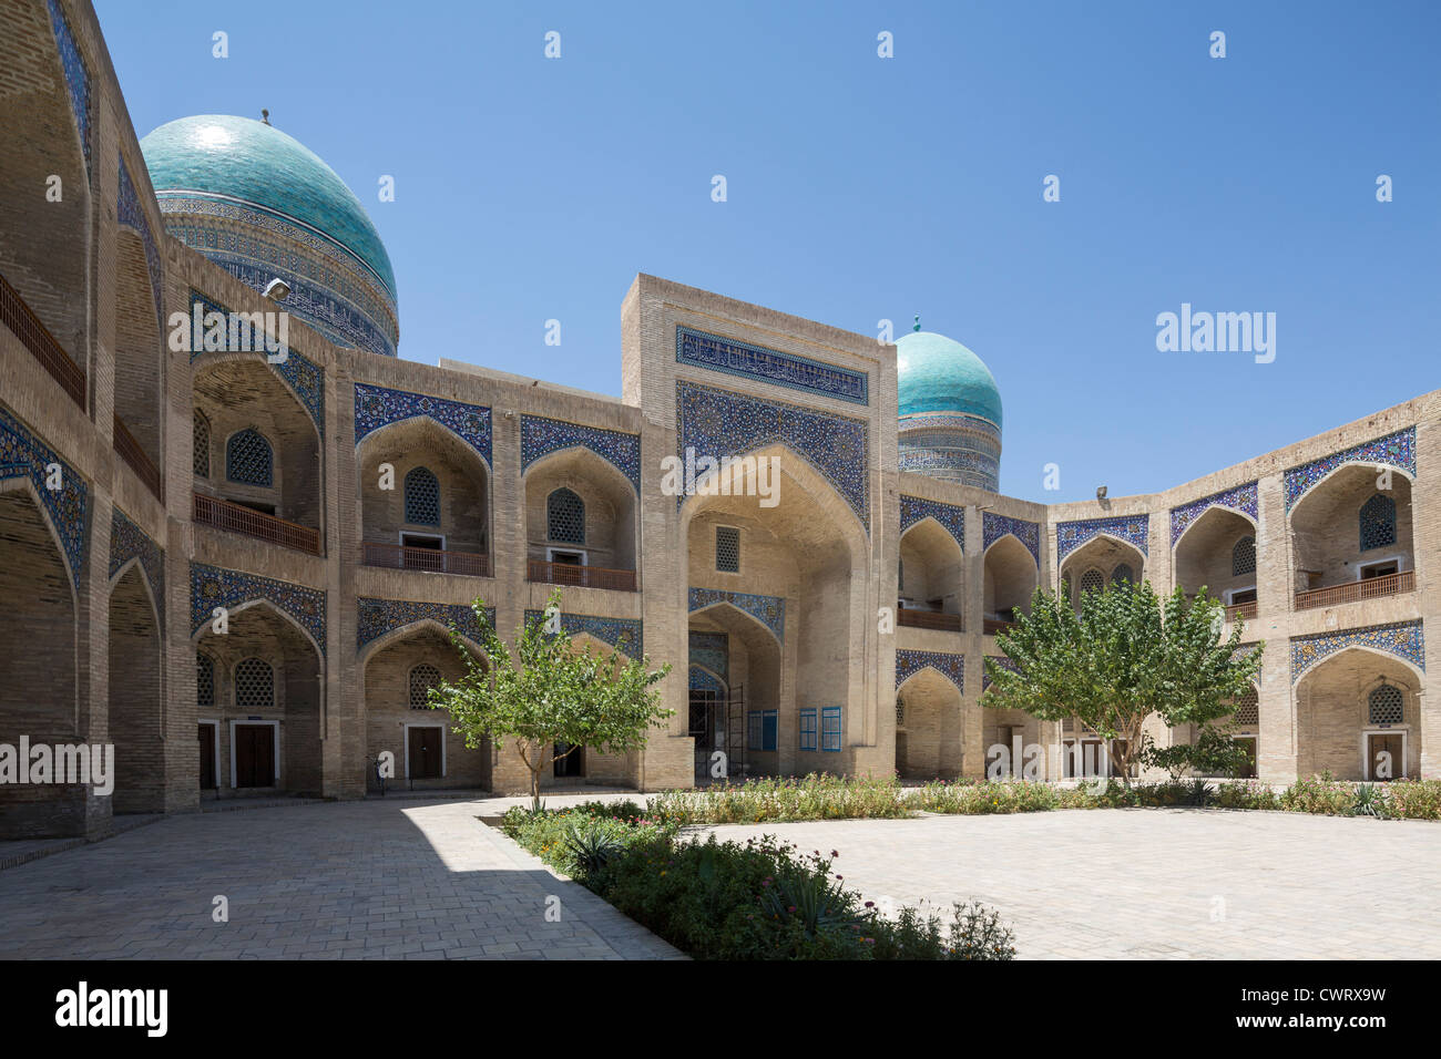
[[[356, 190], [405, 359], [618, 393], [638, 271], [866, 334], [919, 313], [990, 365], [1001, 490], [1040, 501], [1441, 386], [1429, 0], [95, 6], [141, 135], [267, 107]], [[1183, 301], [1275, 313], [1275, 362], [1159, 353]]]

